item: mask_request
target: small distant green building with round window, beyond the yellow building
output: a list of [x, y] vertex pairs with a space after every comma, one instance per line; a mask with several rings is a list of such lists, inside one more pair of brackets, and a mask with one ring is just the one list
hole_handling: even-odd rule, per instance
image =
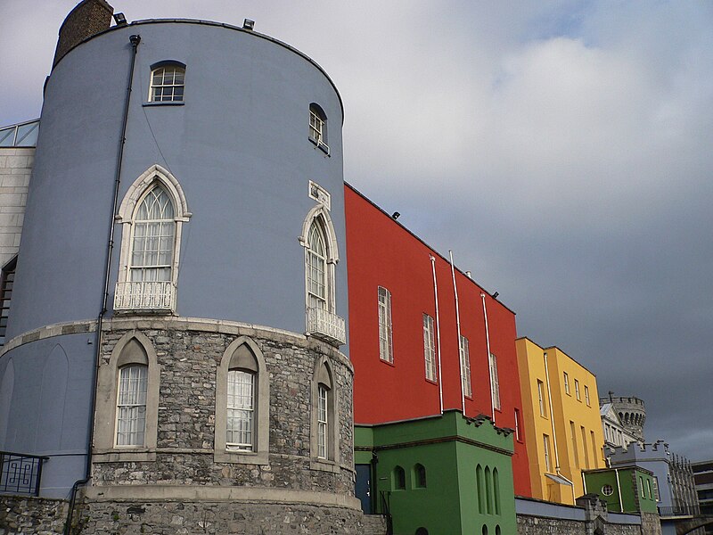
[[598, 494], [613, 513], [657, 513], [653, 473], [630, 466], [584, 473], [586, 491]]

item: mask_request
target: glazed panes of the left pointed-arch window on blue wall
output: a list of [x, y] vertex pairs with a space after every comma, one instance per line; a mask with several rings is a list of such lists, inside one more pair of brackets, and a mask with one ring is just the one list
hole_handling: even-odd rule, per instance
[[163, 187], [154, 185], [143, 196], [133, 227], [129, 280], [133, 283], [169, 282], [176, 221], [173, 203]]

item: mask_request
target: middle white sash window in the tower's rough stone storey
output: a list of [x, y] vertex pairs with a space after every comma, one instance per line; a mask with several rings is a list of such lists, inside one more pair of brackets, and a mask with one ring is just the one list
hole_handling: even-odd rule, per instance
[[254, 449], [255, 374], [228, 370], [225, 448]]

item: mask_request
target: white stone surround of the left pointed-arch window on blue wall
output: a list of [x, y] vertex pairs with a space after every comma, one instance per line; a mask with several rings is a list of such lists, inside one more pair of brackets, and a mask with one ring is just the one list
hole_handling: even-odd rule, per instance
[[134, 238], [135, 215], [143, 202], [143, 198], [155, 185], [160, 185], [168, 194], [173, 203], [174, 245], [173, 259], [170, 264], [170, 287], [172, 288], [171, 300], [168, 310], [152, 310], [137, 307], [146, 311], [176, 312], [176, 287], [178, 284], [178, 261], [181, 257], [181, 236], [183, 225], [193, 215], [188, 210], [188, 202], [185, 199], [183, 188], [167, 169], [160, 165], [153, 165], [146, 169], [134, 183], [129, 186], [127, 194], [124, 196], [116, 221], [121, 225], [121, 251], [119, 253], [119, 284], [131, 282], [132, 250]]

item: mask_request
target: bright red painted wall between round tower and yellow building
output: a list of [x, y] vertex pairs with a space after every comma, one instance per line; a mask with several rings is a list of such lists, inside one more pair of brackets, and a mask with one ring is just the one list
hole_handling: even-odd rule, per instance
[[[345, 185], [349, 288], [349, 356], [355, 368], [355, 424], [379, 424], [437, 415], [438, 383], [426, 379], [423, 314], [436, 319], [431, 257], [435, 258], [444, 409], [462, 409], [455, 292], [449, 260], [433, 251], [389, 214]], [[488, 346], [481, 294], [488, 312], [490, 352], [496, 355], [501, 410], [498, 427], [515, 428], [520, 380], [515, 351], [515, 314], [455, 269], [461, 334], [469, 341], [472, 396], [465, 415], [492, 416]], [[393, 364], [379, 355], [378, 288], [391, 293]], [[436, 340], [438, 359], [438, 334]], [[530, 496], [525, 433], [513, 434], [515, 493]]]

